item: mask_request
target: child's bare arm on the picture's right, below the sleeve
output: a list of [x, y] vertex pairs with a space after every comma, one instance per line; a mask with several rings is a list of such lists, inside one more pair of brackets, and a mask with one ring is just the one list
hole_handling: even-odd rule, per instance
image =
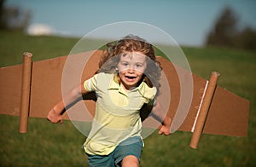
[[163, 108], [160, 106], [159, 101], [155, 101], [154, 107], [152, 108], [151, 112], [153, 118], [160, 121], [161, 126], [159, 130], [159, 134], [162, 135], [170, 135], [171, 133], [171, 124], [172, 124], [172, 118], [170, 118], [168, 115], [163, 112]]

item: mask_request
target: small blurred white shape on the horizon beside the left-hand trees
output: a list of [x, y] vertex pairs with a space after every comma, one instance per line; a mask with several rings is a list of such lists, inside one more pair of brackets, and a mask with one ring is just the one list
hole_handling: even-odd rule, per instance
[[50, 35], [55, 31], [51, 26], [45, 24], [32, 24], [27, 28], [27, 33], [29, 35], [40, 36], [40, 35]]

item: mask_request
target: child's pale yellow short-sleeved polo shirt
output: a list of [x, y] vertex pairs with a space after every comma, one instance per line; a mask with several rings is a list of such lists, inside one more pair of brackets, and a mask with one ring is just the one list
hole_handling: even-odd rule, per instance
[[126, 92], [114, 80], [114, 74], [98, 73], [84, 81], [84, 89], [95, 91], [96, 114], [84, 150], [89, 154], [108, 155], [121, 141], [141, 136], [140, 109], [143, 104], [154, 104], [156, 89], [141, 83]]

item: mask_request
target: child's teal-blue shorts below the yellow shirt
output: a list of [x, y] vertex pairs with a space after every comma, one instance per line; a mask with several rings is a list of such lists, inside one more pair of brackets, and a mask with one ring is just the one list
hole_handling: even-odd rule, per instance
[[109, 155], [88, 155], [88, 164], [90, 167], [112, 167], [121, 166], [121, 161], [128, 155], [137, 157], [140, 161], [143, 150], [143, 141], [141, 137], [135, 136], [122, 141]]

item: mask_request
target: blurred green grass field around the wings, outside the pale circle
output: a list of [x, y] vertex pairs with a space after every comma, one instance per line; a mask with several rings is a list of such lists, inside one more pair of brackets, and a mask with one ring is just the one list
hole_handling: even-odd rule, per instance
[[[19, 32], [0, 32], [0, 66], [22, 63], [22, 53], [33, 60], [68, 55], [76, 38], [29, 37]], [[197, 150], [189, 148], [191, 133], [170, 136], [155, 132], [144, 142], [141, 166], [255, 166], [256, 164], [256, 52], [183, 47], [192, 72], [209, 78], [220, 72], [218, 85], [250, 101], [247, 137], [202, 135]], [[0, 78], [0, 82], [4, 82]], [[19, 118], [0, 115], [0, 166], [87, 166], [81, 148], [85, 137], [70, 121], [49, 124], [29, 118], [28, 133], [20, 134]]]

